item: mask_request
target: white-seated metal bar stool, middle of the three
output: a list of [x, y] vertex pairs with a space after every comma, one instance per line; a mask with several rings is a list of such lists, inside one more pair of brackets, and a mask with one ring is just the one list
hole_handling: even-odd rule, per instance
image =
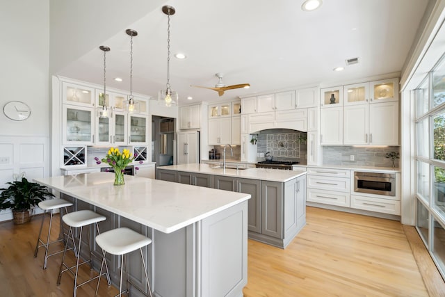
[[[73, 292], [74, 297], [76, 296], [77, 288], [81, 287], [83, 284], [86, 284], [92, 280], [95, 280], [96, 278], [100, 279], [100, 277], [102, 275], [106, 275], [106, 279], [108, 280], [108, 285], [111, 284], [110, 275], [108, 273], [108, 266], [106, 264], [105, 264], [106, 273], [102, 273], [102, 267], [101, 267], [101, 271], [100, 271], [99, 275], [95, 276], [94, 278], [90, 278], [89, 280], [86, 280], [85, 282], [82, 282], [81, 284], [77, 284], [77, 275], [79, 273], [79, 266], [86, 264], [86, 263], [90, 263], [90, 268], [92, 269], [91, 248], [90, 248], [90, 259], [80, 262], [83, 226], [95, 224], [96, 229], [97, 229], [97, 234], [100, 234], [98, 223], [102, 222], [103, 220], [106, 220], [106, 217], [102, 216], [100, 214], [96, 214], [94, 211], [79, 210], [79, 211], [74, 211], [70, 214], [65, 214], [65, 216], [62, 217], [62, 220], [63, 220], [63, 222], [65, 222], [65, 224], [70, 226], [70, 230], [68, 231], [68, 236], [70, 236], [70, 234], [71, 234], [72, 239], [74, 239], [74, 234], [73, 234], [73, 230], [72, 230], [73, 227], [80, 227], [80, 233], [79, 233], [79, 246], [77, 246], [77, 248], [76, 248], [77, 249], [76, 265], [67, 266], [67, 264], [65, 263], [65, 254], [66, 254], [66, 251], [69, 250], [69, 248], [67, 248], [67, 246], [68, 246], [68, 240], [67, 240], [67, 243], [65, 245], [65, 250], [63, 251], [62, 263], [60, 264], [57, 285], [60, 284], [60, 279], [62, 278], [62, 273], [64, 273], [65, 271], [70, 271], [70, 273], [72, 273], [72, 275], [74, 276], [74, 292]], [[88, 232], [88, 229], [87, 229], [87, 232]], [[90, 247], [91, 247], [92, 244], [91, 244], [91, 238], [90, 238], [89, 232], [88, 232], [88, 239], [90, 241]], [[76, 243], [74, 242], [74, 240], [73, 240], [73, 246], [76, 246]], [[65, 269], [63, 269], [63, 267], [65, 267]], [[72, 270], [73, 268], [75, 268], [75, 271]]]

